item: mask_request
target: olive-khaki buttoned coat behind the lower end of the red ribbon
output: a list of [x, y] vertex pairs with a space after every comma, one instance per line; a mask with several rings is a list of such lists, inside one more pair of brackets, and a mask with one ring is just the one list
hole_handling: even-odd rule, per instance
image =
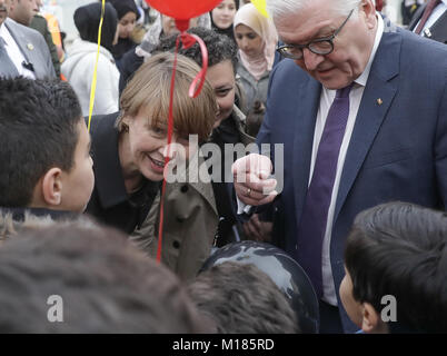
[[[189, 170], [197, 172], [202, 160], [191, 159], [185, 182], [166, 186], [161, 260], [181, 279], [193, 278], [210, 256], [218, 227], [212, 186], [199, 179], [186, 181]], [[146, 221], [130, 239], [149, 256], [157, 257], [160, 195]]]

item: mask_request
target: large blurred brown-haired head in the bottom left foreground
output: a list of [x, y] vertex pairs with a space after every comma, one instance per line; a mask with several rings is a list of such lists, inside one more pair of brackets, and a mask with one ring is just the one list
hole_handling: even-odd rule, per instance
[[0, 333], [201, 332], [179, 279], [115, 229], [29, 228], [0, 248]]

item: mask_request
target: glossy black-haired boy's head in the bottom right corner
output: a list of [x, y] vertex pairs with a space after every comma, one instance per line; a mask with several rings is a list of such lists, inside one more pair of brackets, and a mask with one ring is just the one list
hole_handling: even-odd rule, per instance
[[366, 333], [447, 332], [447, 214], [390, 202], [359, 214], [340, 298]]

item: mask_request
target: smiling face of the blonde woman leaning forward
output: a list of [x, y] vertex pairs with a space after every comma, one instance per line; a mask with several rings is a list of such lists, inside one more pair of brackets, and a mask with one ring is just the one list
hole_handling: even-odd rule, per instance
[[[168, 155], [168, 127], [151, 128], [147, 110], [141, 108], [135, 118], [126, 118], [129, 126], [128, 156], [133, 168], [147, 179], [159, 181], [163, 179], [165, 158]], [[178, 137], [172, 134], [170, 157], [179, 155], [181, 159], [189, 159], [190, 149], [188, 137]]]

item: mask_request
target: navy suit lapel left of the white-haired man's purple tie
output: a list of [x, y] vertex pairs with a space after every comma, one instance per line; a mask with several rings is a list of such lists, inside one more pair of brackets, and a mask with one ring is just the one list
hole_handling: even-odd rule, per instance
[[321, 85], [314, 78], [308, 77], [299, 90], [300, 97], [296, 105], [296, 112], [299, 112], [295, 123], [294, 140], [294, 188], [295, 204], [297, 209], [297, 221], [301, 218], [302, 207], [306, 199], [310, 159], [312, 156], [314, 131], [316, 117], [319, 107]]

